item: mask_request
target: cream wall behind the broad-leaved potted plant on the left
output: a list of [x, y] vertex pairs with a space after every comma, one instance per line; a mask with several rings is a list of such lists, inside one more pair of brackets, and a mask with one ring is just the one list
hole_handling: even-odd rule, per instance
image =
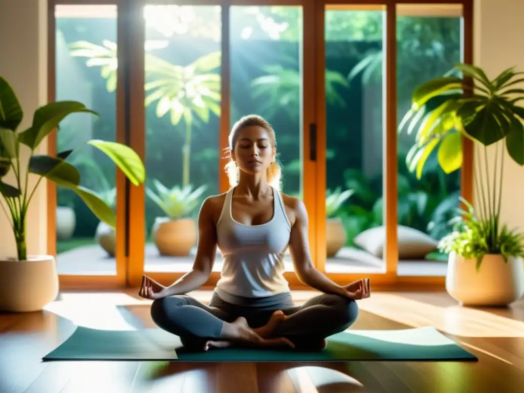
[[[23, 129], [32, 122], [32, 114], [47, 101], [47, 1], [0, 0], [0, 75], [13, 87], [24, 110]], [[29, 149], [21, 147], [22, 162], [27, 163]], [[39, 152], [47, 151], [47, 143]], [[12, 183], [13, 178], [6, 181]], [[34, 187], [30, 183], [29, 187]], [[3, 199], [2, 199], [3, 203]], [[29, 254], [47, 251], [46, 182], [32, 199], [27, 219]], [[13, 232], [0, 210], [0, 259], [16, 256]]]

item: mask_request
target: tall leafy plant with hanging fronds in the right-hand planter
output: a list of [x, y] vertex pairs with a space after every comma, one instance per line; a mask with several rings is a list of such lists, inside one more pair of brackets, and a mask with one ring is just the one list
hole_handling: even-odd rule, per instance
[[[481, 68], [459, 63], [444, 77], [414, 91], [411, 110], [399, 127], [416, 132], [407, 163], [418, 178], [437, 147], [440, 166], [450, 173], [462, 166], [463, 136], [479, 145], [474, 176], [478, 216], [464, 201], [469, 210], [461, 211], [461, 226], [442, 242], [442, 249], [476, 257], [477, 266], [485, 254], [505, 258], [522, 254], [521, 235], [500, 224], [505, 152], [524, 165], [524, 107], [518, 105], [524, 100], [524, 90], [516, 88], [524, 82], [522, 74], [508, 68], [490, 80]], [[489, 147], [493, 154], [488, 153]]]

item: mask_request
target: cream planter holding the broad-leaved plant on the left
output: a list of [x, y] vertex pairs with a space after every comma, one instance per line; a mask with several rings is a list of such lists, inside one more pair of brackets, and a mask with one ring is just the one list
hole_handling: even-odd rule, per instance
[[0, 311], [40, 311], [58, 296], [57, 265], [52, 256], [0, 260], [0, 271]]

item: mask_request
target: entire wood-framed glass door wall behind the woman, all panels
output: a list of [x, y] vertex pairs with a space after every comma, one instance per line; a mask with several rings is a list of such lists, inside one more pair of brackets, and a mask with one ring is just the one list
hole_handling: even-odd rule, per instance
[[[68, 158], [117, 226], [49, 185], [49, 252], [62, 283], [134, 286], [143, 274], [169, 282], [189, 271], [199, 208], [228, 190], [228, 134], [248, 114], [276, 131], [282, 191], [308, 210], [316, 268], [339, 282], [443, 282], [436, 243], [458, 196], [471, 199], [472, 147], [457, 137], [463, 163], [447, 174], [435, 148], [417, 176], [413, 132], [399, 124], [415, 86], [472, 61], [470, 0], [56, 3], [50, 99], [100, 116], [64, 122], [51, 154], [115, 140], [147, 172], [133, 187], [87, 147]], [[209, 285], [221, 268], [217, 253]], [[286, 270], [298, 285], [289, 253]]]

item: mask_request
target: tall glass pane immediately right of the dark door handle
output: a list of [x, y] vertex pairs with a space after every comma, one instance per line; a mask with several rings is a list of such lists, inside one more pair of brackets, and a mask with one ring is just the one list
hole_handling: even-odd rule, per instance
[[326, 272], [386, 269], [384, 18], [381, 6], [325, 10]]

